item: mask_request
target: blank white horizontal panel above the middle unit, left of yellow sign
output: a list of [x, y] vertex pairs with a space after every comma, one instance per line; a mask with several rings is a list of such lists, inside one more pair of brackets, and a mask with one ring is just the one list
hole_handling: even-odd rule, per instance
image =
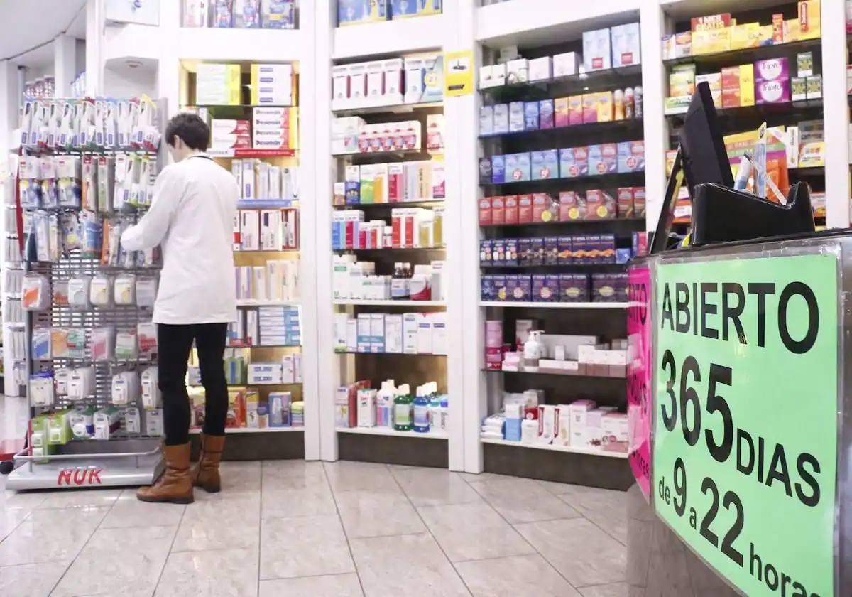
[[433, 14], [337, 27], [332, 32], [331, 58], [400, 55], [422, 49], [438, 49], [446, 37], [445, 27], [449, 25], [445, 21], [444, 14]]

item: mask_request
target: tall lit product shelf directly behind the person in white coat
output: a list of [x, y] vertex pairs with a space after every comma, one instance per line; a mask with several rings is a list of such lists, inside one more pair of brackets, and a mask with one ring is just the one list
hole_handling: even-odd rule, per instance
[[[305, 456], [297, 62], [181, 61], [181, 110], [210, 125], [208, 154], [237, 180], [233, 229], [237, 316], [228, 328], [226, 433], [233, 457]], [[192, 432], [204, 387], [187, 374]], [[250, 433], [274, 433], [274, 442]]]

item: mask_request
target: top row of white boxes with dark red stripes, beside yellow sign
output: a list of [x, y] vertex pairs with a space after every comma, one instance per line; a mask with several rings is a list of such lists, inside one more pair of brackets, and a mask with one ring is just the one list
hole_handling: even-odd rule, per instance
[[331, 69], [331, 109], [432, 103], [444, 99], [444, 58], [422, 55]]

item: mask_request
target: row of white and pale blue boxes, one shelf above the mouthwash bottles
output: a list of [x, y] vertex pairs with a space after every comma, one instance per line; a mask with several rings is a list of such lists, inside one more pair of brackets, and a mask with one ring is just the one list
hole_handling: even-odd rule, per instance
[[334, 315], [334, 350], [372, 354], [446, 355], [446, 313]]

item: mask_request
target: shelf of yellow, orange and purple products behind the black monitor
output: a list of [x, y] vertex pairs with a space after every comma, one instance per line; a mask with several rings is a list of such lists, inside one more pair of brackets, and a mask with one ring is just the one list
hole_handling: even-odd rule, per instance
[[[711, 15], [676, 6], [668, 9], [668, 31], [662, 39], [668, 79], [664, 110], [670, 134], [666, 172], [671, 171], [688, 100], [695, 85], [706, 82], [734, 177], [742, 156], [756, 145], [758, 127], [766, 122], [770, 177], [784, 197], [790, 184], [809, 183], [815, 222], [825, 226], [820, 5], [767, 4], [753, 10], [732, 5], [730, 12]], [[753, 188], [753, 175], [748, 184]], [[768, 196], [775, 197], [771, 188]], [[691, 215], [688, 192], [682, 188], [675, 219], [681, 234], [686, 233]]]

